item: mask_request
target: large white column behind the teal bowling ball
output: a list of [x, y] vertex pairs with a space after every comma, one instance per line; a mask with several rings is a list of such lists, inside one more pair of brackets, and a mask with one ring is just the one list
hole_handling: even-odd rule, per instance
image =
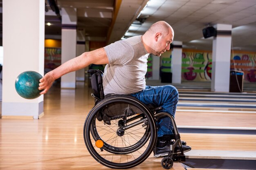
[[14, 86], [28, 70], [44, 74], [45, 0], [3, 0], [2, 118], [43, 116], [43, 95], [20, 97]]

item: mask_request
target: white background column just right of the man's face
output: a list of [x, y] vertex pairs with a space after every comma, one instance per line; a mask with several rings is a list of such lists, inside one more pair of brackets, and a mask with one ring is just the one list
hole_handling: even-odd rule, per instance
[[171, 70], [172, 83], [181, 83], [182, 41], [173, 41]]

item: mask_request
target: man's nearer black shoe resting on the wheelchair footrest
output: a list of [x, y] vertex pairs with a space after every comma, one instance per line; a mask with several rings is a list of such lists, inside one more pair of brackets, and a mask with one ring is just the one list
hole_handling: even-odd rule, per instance
[[[173, 144], [173, 143], [174, 142], [171, 141], [171, 144]], [[190, 146], [186, 146], [186, 142], [182, 141], [182, 149], [183, 149], [183, 152], [188, 152], [189, 150], [191, 150], [191, 147]], [[168, 154], [170, 153], [170, 142], [158, 141], [157, 146], [155, 146], [155, 148], [153, 150], [153, 153], [154, 153], [154, 157], [168, 156]], [[181, 153], [180, 146], [177, 145], [174, 148], [174, 153], [173, 154], [179, 154], [179, 153]]]

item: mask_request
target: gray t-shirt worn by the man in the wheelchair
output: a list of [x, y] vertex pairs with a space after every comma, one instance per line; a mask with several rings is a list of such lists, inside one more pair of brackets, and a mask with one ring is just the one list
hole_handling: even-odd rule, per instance
[[103, 75], [104, 94], [132, 94], [145, 89], [148, 52], [141, 36], [116, 41], [104, 47], [109, 64]]

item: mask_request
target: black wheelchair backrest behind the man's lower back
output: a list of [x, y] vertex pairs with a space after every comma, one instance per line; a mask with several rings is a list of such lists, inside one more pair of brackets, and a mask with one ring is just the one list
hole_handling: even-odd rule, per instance
[[91, 77], [91, 84], [92, 84], [92, 90], [93, 90], [92, 97], [94, 98], [96, 97], [95, 99], [100, 101], [103, 98], [105, 98], [104, 91], [103, 91], [103, 84], [102, 84], [103, 72], [98, 69], [90, 69], [90, 70], [87, 70], [87, 72], [92, 74], [92, 77]]

